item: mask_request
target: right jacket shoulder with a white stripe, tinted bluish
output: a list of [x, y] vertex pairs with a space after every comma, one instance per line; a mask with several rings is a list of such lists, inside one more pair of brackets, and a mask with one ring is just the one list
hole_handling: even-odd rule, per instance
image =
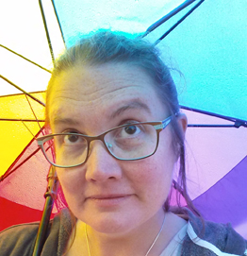
[[230, 224], [202, 221], [193, 213], [188, 213], [189, 224], [182, 255], [199, 255], [189, 254], [191, 249], [196, 249], [198, 253], [204, 251], [206, 255], [224, 255], [223, 252], [247, 255], [247, 241]]

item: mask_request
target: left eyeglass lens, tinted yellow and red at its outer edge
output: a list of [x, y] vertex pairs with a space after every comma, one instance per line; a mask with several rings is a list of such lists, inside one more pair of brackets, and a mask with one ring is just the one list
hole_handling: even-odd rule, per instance
[[56, 156], [53, 157], [46, 152], [46, 157], [50, 162], [60, 166], [80, 164], [87, 158], [87, 141], [76, 133], [53, 135], [49, 141], [46, 141], [44, 148], [49, 145], [55, 147]]

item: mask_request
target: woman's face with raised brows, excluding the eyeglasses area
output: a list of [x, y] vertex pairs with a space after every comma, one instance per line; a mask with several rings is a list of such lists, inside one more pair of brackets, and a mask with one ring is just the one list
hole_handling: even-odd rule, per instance
[[[95, 136], [129, 121], [163, 120], [169, 114], [153, 83], [140, 68], [124, 63], [77, 66], [62, 72], [50, 94], [52, 131]], [[57, 171], [78, 219], [99, 232], [126, 233], [163, 217], [175, 161], [168, 126], [160, 132], [156, 153], [149, 158], [120, 161], [107, 153], [101, 141], [93, 141], [87, 162]]]

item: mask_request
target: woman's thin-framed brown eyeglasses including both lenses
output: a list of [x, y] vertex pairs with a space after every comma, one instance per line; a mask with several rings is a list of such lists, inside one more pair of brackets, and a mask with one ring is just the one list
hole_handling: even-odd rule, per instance
[[[107, 152], [118, 160], [140, 160], [156, 153], [159, 132], [170, 124], [172, 118], [173, 115], [159, 122], [130, 123], [108, 129], [98, 136], [75, 132], [49, 134], [38, 138], [37, 142], [47, 161], [62, 168], [87, 162], [91, 142], [95, 140], [102, 141]], [[51, 147], [56, 156], [47, 153]]]

